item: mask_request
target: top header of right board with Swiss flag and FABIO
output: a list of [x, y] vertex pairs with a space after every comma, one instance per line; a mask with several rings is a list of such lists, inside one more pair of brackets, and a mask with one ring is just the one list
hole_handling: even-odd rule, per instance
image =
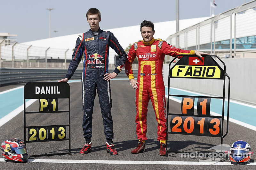
[[222, 79], [224, 70], [212, 57], [206, 57], [183, 56], [171, 68], [171, 77]]

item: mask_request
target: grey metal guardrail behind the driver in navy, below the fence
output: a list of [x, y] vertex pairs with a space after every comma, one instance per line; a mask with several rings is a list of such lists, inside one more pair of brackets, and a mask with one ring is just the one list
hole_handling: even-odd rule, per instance
[[[113, 72], [114, 70], [109, 70]], [[134, 75], [138, 74], [138, 69], [133, 69]], [[83, 69], [76, 69], [72, 79], [81, 79]], [[24, 83], [29, 81], [60, 80], [65, 78], [67, 69], [15, 69], [0, 68], [0, 86], [14, 83]], [[125, 71], [121, 71], [116, 78], [127, 78]], [[128, 79], [128, 78], [127, 78]]]

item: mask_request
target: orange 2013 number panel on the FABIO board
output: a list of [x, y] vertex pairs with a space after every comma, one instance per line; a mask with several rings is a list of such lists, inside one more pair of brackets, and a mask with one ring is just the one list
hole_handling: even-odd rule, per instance
[[197, 136], [221, 136], [221, 117], [171, 115], [171, 132], [174, 134]]

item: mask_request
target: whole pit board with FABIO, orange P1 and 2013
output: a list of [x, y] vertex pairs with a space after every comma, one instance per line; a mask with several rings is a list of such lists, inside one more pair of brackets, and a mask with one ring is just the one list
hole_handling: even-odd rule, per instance
[[[177, 58], [180, 59], [173, 65]], [[219, 64], [221, 64], [221, 66]], [[177, 81], [175, 81], [177, 78], [183, 79], [182, 83], [187, 83], [189, 86], [187, 86], [187, 88], [191, 91], [197, 91], [196, 89], [198, 89], [200, 85], [205, 87], [205, 85], [208, 85], [207, 82], [212, 83], [216, 80], [221, 83], [211, 86], [211, 91], [216, 89], [217, 91], [222, 91], [222, 94], [209, 95], [206, 93], [199, 94], [194, 92], [184, 93], [183, 90], [173, 90], [173, 88], [170, 87], [173, 86], [172, 83], [177, 83]], [[184, 80], [185, 78], [186, 80]], [[189, 78], [193, 80], [188, 80]], [[226, 78], [228, 78], [228, 81], [226, 81]], [[198, 83], [196, 81], [198, 81]], [[225, 94], [226, 82], [228, 82], [228, 94]], [[208, 92], [210, 93], [210, 91]], [[166, 126], [168, 130], [166, 131], [166, 151], [169, 133], [220, 137], [221, 144], [223, 144], [223, 138], [228, 134], [230, 78], [226, 73], [226, 65], [219, 56], [203, 55], [202, 57], [199, 57], [197, 55], [177, 55], [174, 57], [169, 63], [167, 94]], [[225, 96], [228, 96], [226, 111], [224, 110], [226, 106]], [[173, 112], [172, 107], [170, 107], [171, 97], [181, 100], [181, 113]], [[222, 100], [222, 104], [217, 105], [217, 100], [218, 102], [219, 100]], [[212, 107], [211, 102], [214, 104]], [[216, 108], [219, 109], [217, 110]], [[220, 116], [212, 115], [213, 112], [211, 109]], [[222, 111], [220, 112], [220, 110]], [[225, 112], [227, 113], [227, 121], [224, 121]], [[225, 134], [223, 132], [224, 124], [226, 125]]]

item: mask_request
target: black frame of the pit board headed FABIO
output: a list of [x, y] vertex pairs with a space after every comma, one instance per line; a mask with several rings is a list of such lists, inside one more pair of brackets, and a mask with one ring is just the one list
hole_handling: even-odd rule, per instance
[[[172, 67], [171, 64], [175, 61], [175, 59], [179, 56], [183, 56], [177, 63], [175, 63]], [[193, 57], [195, 60], [190, 60]], [[222, 64], [224, 69], [220, 67], [220, 65], [215, 61], [218, 59]], [[191, 61], [200, 62], [202, 64], [194, 64]], [[207, 71], [209, 70], [209, 73]], [[227, 102], [227, 127], [226, 133], [223, 135], [223, 125], [224, 125], [224, 108], [225, 108], [225, 86], [226, 86], [226, 77], [228, 78], [228, 102]], [[198, 78], [198, 79], [218, 79], [223, 80], [223, 95], [222, 96], [196, 96], [196, 95], [174, 95], [170, 92], [170, 80], [171, 78]], [[166, 121], [166, 156], [168, 154], [167, 144], [168, 144], [168, 134], [182, 134], [182, 135], [196, 135], [196, 136], [211, 136], [211, 137], [220, 137], [221, 144], [223, 144], [223, 138], [228, 134], [228, 118], [229, 118], [229, 100], [230, 100], [230, 78], [226, 73], [226, 65], [217, 55], [203, 55], [202, 58], [197, 55], [177, 55], [169, 64], [169, 74], [168, 74], [168, 98], [167, 98], [167, 121]], [[209, 100], [212, 98], [221, 99], [222, 100], [222, 115], [221, 116], [212, 116], [210, 115], [209, 110], [209, 101], [205, 101], [205, 105], [208, 105], [208, 112], [206, 115], [194, 115], [194, 113], [190, 114], [177, 114], [177, 113], [169, 113], [169, 98], [170, 97], [182, 97], [182, 102], [184, 98], [190, 99], [192, 102], [195, 98]], [[203, 101], [200, 100], [200, 101]], [[207, 104], [206, 104], [207, 103]], [[186, 106], [186, 104], [185, 104]], [[194, 103], [193, 103], [194, 106]], [[198, 105], [197, 105], [198, 107]], [[192, 110], [194, 109], [191, 107]], [[181, 106], [182, 109], [182, 106]], [[183, 112], [183, 111], [182, 111]], [[194, 112], [194, 111], [192, 111]], [[169, 115], [171, 116], [171, 130], [169, 131]], [[187, 119], [187, 120], [186, 120]], [[207, 119], [208, 122], [205, 120]], [[188, 123], [189, 122], [189, 123]], [[207, 126], [204, 126], [204, 123], [207, 122]], [[183, 126], [182, 126], [183, 125]], [[200, 129], [200, 125], [202, 129]], [[196, 127], [197, 126], [197, 127]], [[196, 129], [194, 129], [196, 127]], [[172, 131], [172, 129], [174, 130]], [[217, 131], [219, 129], [220, 131]], [[200, 134], [201, 131], [203, 134]], [[207, 132], [204, 133], [204, 132]], [[216, 133], [215, 133], [216, 132]], [[178, 151], [169, 151], [176, 152]]]

